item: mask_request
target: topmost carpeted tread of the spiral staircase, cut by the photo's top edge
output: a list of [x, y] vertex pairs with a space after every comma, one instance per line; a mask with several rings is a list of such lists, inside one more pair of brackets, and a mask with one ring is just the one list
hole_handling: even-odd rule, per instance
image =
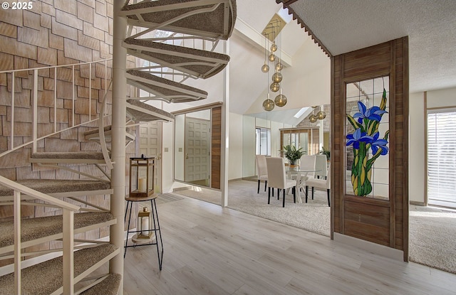
[[[195, 3], [194, 6], [183, 9], [175, 9], [175, 7], [172, 7], [173, 4], [188, 4], [188, 2], [192, 1], [195, 0], [142, 1], [138, 4], [125, 5], [123, 6], [122, 10], [132, 11], [134, 14], [135, 12], [133, 10], [135, 9], [143, 9], [146, 11], [147, 9], [155, 9], [154, 12], [141, 13], [141, 18], [145, 22], [154, 24], [164, 23], [165, 21], [169, 21], [170, 19], [176, 18], [177, 16], [182, 16], [182, 14], [187, 14], [198, 9], [207, 9], [214, 6], [214, 4], [197, 5], [197, 3]], [[223, 40], [227, 40], [229, 36], [231, 36], [234, 29], [237, 10], [235, 0], [230, 0], [229, 3], [232, 5], [232, 9], [229, 9], [228, 12], [229, 19], [227, 28], [224, 28], [225, 4], [222, 3], [214, 11], [187, 16], [186, 18], [183, 18], [179, 21], [170, 23], [170, 25], [162, 26], [160, 29], [165, 31], [175, 31], [177, 33], [192, 33], [196, 36], [217, 36]], [[128, 15], [127, 17], [129, 20], [132, 20], [133, 24], [135, 25], [141, 25], [141, 23], [144, 23], [142, 21], [138, 23], [139, 18], [136, 15]]]

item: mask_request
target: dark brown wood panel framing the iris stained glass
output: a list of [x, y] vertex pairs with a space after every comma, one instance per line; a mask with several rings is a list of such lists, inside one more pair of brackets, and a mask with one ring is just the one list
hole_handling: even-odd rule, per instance
[[[389, 76], [389, 200], [346, 195], [346, 84]], [[331, 239], [334, 232], [403, 251], [408, 261], [408, 37], [331, 58]]]

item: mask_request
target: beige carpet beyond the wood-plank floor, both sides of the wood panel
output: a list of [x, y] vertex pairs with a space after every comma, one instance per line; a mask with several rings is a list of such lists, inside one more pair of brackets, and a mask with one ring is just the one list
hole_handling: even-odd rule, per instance
[[[285, 208], [280, 200], [271, 198], [261, 183], [230, 181], [228, 207], [245, 213], [299, 227], [321, 235], [330, 235], [330, 214], [326, 192], [315, 191], [314, 200], [294, 204], [293, 195], [286, 195]], [[180, 195], [221, 205], [221, 193], [205, 188], [176, 191]], [[456, 211], [410, 206], [410, 261], [456, 274]]]

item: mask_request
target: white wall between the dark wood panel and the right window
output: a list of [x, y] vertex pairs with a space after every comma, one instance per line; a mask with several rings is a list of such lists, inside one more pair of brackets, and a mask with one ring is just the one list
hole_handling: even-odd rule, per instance
[[409, 199], [413, 203], [425, 203], [425, 119], [426, 109], [456, 107], [456, 88], [432, 90], [410, 94], [409, 138]]

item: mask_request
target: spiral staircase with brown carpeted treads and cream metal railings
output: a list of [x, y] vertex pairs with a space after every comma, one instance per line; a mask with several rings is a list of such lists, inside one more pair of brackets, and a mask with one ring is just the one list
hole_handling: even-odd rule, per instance
[[[184, 82], [212, 77], [227, 65], [229, 56], [214, 50], [219, 41], [231, 36], [236, 4], [235, 0], [160, 0], [133, 4], [127, 1], [119, 14], [128, 20], [129, 36], [123, 47], [142, 65], [126, 70], [126, 82], [147, 93], [126, 101], [125, 144], [128, 145], [135, 140], [131, 131], [138, 124], [174, 119], [172, 114], [145, 101], [192, 102], [207, 97], [204, 90]], [[34, 71], [38, 77], [38, 70]], [[123, 293], [119, 290], [122, 274], [100, 272], [100, 267], [122, 254], [122, 245], [103, 239], [78, 238], [92, 230], [109, 228], [118, 222], [123, 224], [123, 220], [113, 217], [109, 204], [96, 205], [89, 198], [104, 198], [113, 193], [110, 186], [112, 128], [107, 124], [113, 118], [105, 111], [106, 97], [96, 123], [90, 121], [87, 125], [71, 127], [83, 134], [78, 142], [94, 141], [99, 144], [98, 150], [48, 151], [39, 141], [58, 134], [52, 132], [41, 138], [33, 135], [30, 142], [21, 146], [11, 144], [9, 151], [0, 154], [7, 157], [31, 145], [28, 161], [32, 170], [45, 167], [77, 175], [73, 179], [18, 181], [0, 176], [0, 209], [9, 206], [14, 213], [11, 220], [0, 222], [0, 260], [11, 262], [2, 267], [9, 273], [0, 277], [0, 294]], [[11, 124], [13, 121], [11, 119]], [[36, 122], [33, 124], [36, 126], [33, 129], [39, 127]], [[14, 138], [9, 140], [14, 141]], [[86, 165], [95, 166], [98, 173], [71, 168]], [[53, 208], [61, 214], [26, 218], [21, 215], [26, 207]], [[29, 247], [43, 242], [57, 246], [52, 250], [28, 251]]]

